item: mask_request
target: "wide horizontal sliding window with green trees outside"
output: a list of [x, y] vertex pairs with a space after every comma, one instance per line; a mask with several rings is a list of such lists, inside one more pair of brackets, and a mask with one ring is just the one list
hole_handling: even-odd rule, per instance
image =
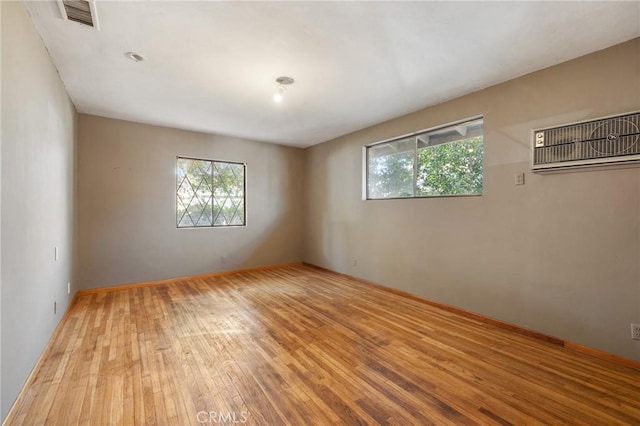
[[480, 118], [368, 146], [367, 199], [481, 195], [482, 129]]

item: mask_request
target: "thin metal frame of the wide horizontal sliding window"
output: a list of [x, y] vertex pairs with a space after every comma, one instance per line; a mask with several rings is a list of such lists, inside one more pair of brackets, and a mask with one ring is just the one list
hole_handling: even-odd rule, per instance
[[[369, 194], [369, 152], [371, 150], [372, 147], [377, 146], [377, 145], [382, 145], [385, 143], [390, 143], [390, 142], [395, 142], [395, 141], [400, 141], [402, 139], [408, 139], [408, 138], [413, 138], [416, 137], [418, 135], [421, 135], [423, 133], [429, 133], [429, 132], [434, 132], [437, 130], [442, 130], [442, 129], [446, 129], [449, 127], [455, 127], [455, 126], [459, 126], [461, 124], [464, 123], [469, 123], [469, 122], [473, 122], [473, 121], [478, 121], [478, 120], [482, 120], [482, 126], [483, 126], [483, 131], [482, 131], [482, 145], [483, 145], [483, 155], [482, 155], [482, 180], [483, 180], [483, 190], [481, 193], [479, 194], [446, 194], [446, 195], [416, 195], [417, 194], [417, 182], [418, 182], [418, 162], [415, 161], [417, 159], [417, 151], [418, 151], [418, 144], [414, 143], [414, 162], [413, 162], [413, 195], [408, 196], [408, 197], [384, 197], [384, 198], [371, 198], [370, 194]], [[434, 145], [437, 146], [437, 145]], [[411, 133], [407, 133], [401, 136], [394, 136], [392, 138], [388, 138], [388, 139], [384, 139], [378, 142], [374, 142], [368, 145], [364, 145], [362, 147], [363, 151], [364, 151], [364, 155], [363, 155], [363, 177], [364, 177], [364, 185], [362, 188], [362, 200], [363, 201], [383, 201], [383, 200], [412, 200], [412, 199], [419, 199], [419, 198], [459, 198], [459, 197], [481, 197], [484, 194], [484, 116], [483, 115], [475, 115], [472, 117], [468, 117], [468, 118], [464, 118], [461, 120], [456, 120], [456, 121], [452, 121], [450, 123], [446, 123], [446, 124], [442, 124], [442, 125], [438, 125], [438, 126], [434, 126], [434, 127], [429, 127], [426, 129], [422, 129], [422, 130], [418, 130], [415, 132], [411, 132]]]

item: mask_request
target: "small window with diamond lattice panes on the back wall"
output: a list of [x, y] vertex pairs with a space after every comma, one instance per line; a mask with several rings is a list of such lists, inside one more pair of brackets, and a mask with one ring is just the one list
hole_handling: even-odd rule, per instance
[[178, 228], [245, 224], [245, 165], [178, 157]]

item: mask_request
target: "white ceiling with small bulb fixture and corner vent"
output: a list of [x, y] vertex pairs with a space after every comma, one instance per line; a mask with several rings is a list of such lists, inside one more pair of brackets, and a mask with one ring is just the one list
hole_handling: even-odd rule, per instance
[[80, 112], [302, 147], [640, 36], [635, 1], [26, 4]]

